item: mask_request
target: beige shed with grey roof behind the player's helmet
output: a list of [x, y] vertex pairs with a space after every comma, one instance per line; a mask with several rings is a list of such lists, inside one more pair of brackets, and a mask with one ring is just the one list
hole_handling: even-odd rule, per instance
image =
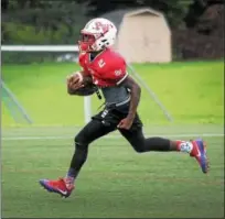
[[130, 63], [172, 61], [171, 31], [164, 15], [150, 8], [117, 10], [101, 18], [115, 23], [118, 37], [115, 48]]

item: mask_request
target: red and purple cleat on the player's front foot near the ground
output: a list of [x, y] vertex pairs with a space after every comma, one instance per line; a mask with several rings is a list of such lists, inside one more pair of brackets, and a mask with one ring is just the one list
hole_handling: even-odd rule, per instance
[[67, 198], [74, 189], [74, 185], [73, 184], [66, 185], [64, 178], [60, 178], [57, 180], [40, 179], [39, 183], [46, 190], [49, 190], [51, 193], [57, 193], [62, 197], [65, 197], [65, 198]]

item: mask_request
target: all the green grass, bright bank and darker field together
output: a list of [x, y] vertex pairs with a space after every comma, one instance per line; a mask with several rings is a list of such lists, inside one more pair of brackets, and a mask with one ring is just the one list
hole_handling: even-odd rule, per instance
[[[143, 89], [144, 132], [170, 139], [204, 138], [208, 175], [186, 154], [137, 154], [114, 133], [90, 145], [68, 199], [41, 189], [40, 178], [66, 174], [73, 138], [84, 124], [83, 98], [69, 97], [74, 64], [6, 65], [2, 77], [34, 123], [18, 124], [2, 106], [3, 218], [224, 217], [224, 63], [135, 65], [174, 118], [169, 123]], [[93, 98], [93, 112], [101, 102]]]

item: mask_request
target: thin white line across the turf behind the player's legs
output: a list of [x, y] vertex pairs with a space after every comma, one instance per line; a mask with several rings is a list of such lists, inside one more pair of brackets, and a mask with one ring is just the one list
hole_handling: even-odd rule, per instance
[[[168, 138], [188, 138], [188, 136], [207, 136], [207, 138], [216, 138], [216, 136], [224, 136], [224, 133], [200, 133], [200, 134], [146, 134], [148, 136], [168, 136]], [[20, 141], [20, 140], [66, 140], [66, 139], [73, 139], [74, 136], [69, 135], [57, 135], [57, 136], [3, 136], [1, 140], [3, 141]], [[120, 139], [122, 138], [121, 135], [106, 135], [103, 136], [104, 139]]]

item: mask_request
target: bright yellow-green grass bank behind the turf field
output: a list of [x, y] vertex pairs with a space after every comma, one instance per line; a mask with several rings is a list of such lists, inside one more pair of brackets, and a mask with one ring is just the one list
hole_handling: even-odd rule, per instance
[[[34, 121], [34, 125], [82, 125], [82, 97], [66, 94], [65, 77], [75, 64], [3, 65], [2, 77]], [[224, 63], [196, 62], [135, 65], [174, 118], [175, 123], [223, 123]], [[101, 105], [93, 98], [93, 113]], [[162, 111], [142, 89], [139, 107], [147, 125], [168, 123]], [[2, 125], [18, 125], [2, 107]]]

